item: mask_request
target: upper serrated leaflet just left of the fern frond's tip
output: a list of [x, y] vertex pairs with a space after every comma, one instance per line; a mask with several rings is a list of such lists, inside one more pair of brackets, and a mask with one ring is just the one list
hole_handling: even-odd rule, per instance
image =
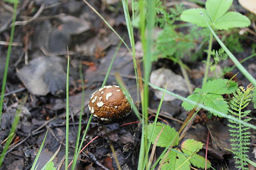
[[203, 86], [202, 90], [204, 93], [213, 94], [230, 94], [236, 91], [237, 83], [229, 81], [227, 79], [215, 79], [207, 81]]

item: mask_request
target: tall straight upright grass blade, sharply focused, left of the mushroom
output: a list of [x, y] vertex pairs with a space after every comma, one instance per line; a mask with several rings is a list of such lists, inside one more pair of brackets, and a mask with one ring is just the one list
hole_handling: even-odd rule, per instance
[[[69, 49], [67, 49], [69, 52]], [[69, 161], [69, 54], [68, 54], [68, 61], [67, 61], [67, 83], [66, 83], [66, 159], [65, 159], [65, 168], [68, 167]]]

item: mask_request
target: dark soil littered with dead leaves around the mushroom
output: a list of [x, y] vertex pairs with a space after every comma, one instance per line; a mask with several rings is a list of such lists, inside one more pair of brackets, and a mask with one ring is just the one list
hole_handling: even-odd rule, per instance
[[[125, 25], [123, 7], [118, 0], [88, 0], [95, 9], [110, 23], [111, 26], [129, 42]], [[8, 42], [10, 38], [10, 21], [12, 10], [10, 4], [0, 2], [0, 41]], [[240, 9], [240, 8], [239, 8]], [[245, 11], [242, 10], [241, 13]], [[33, 16], [36, 16], [33, 18]], [[31, 18], [32, 17], [32, 18]], [[20, 122], [15, 138], [8, 150], [3, 164], [3, 170], [28, 170], [33, 164], [36, 153], [44, 139], [46, 130], [49, 130], [44, 148], [39, 158], [38, 169], [57, 153], [54, 159], [55, 166], [65, 155], [65, 122], [66, 122], [66, 72], [67, 46], [69, 47], [70, 83], [69, 83], [69, 157], [74, 153], [77, 137], [78, 119], [81, 108], [82, 86], [79, 78], [79, 65], [85, 82], [85, 106], [82, 120], [82, 131], [87, 124], [90, 111], [87, 107], [91, 94], [101, 87], [108, 70], [110, 61], [119, 43], [118, 37], [82, 0], [20, 0], [18, 5], [17, 23], [10, 55], [8, 81], [6, 86], [4, 111], [0, 124], [0, 152], [16, 111], [22, 110]], [[186, 31], [186, 30], [179, 30]], [[135, 28], [137, 56], [142, 56], [138, 29]], [[255, 36], [250, 35], [251, 39]], [[251, 55], [253, 40], [243, 39], [243, 52], [234, 52], [238, 60]], [[3, 79], [3, 70], [8, 45], [0, 44], [0, 82]], [[214, 49], [219, 45], [214, 41]], [[203, 59], [206, 54], [203, 55]], [[201, 87], [204, 63], [184, 61], [192, 70], [189, 78], [194, 87]], [[233, 65], [231, 60], [222, 62], [220, 67]], [[255, 57], [243, 63], [243, 66], [256, 77]], [[142, 64], [141, 64], [142, 67]], [[167, 59], [153, 62], [152, 71], [159, 68], [172, 70], [175, 75], [182, 75], [179, 65]], [[107, 85], [117, 85], [115, 72], [120, 72], [130, 92], [133, 101], [138, 102], [136, 80], [134, 75], [131, 53], [121, 45], [114, 61], [113, 68], [107, 80]], [[238, 69], [234, 69], [225, 78], [231, 78]], [[235, 77], [238, 85], [247, 86], [248, 80], [240, 73]], [[182, 80], [183, 81], [183, 80]], [[180, 82], [182, 83], [182, 82]], [[182, 88], [174, 92], [187, 97], [189, 92]], [[20, 101], [26, 99], [24, 105]], [[154, 89], [150, 89], [149, 113], [155, 114], [159, 105]], [[179, 130], [181, 121], [187, 117], [187, 112], [181, 106], [182, 101], [174, 99], [164, 101], [160, 112], [160, 121], [167, 122], [171, 127]], [[253, 104], [248, 106], [252, 110], [255, 124], [256, 110]], [[141, 108], [139, 107], [141, 111]], [[106, 125], [108, 135], [103, 130], [102, 123], [92, 119], [90, 129], [84, 140], [86, 145], [92, 138], [99, 135], [87, 148], [95, 155], [97, 161], [109, 170], [116, 170], [117, 165], [110, 150], [109, 140], [113, 143], [118, 161], [122, 170], [136, 170], [141, 139], [141, 124], [120, 126], [128, 122], [138, 121], [133, 112], [120, 122]], [[154, 118], [149, 119], [150, 122]], [[205, 156], [207, 132], [210, 132], [207, 159], [216, 170], [235, 169], [235, 160], [232, 154], [224, 148], [230, 148], [228, 121], [212, 116], [207, 118], [207, 111], [201, 110], [195, 118], [191, 128], [184, 137], [204, 143], [200, 155]], [[251, 145], [249, 158], [256, 161], [256, 131], [251, 131]], [[109, 140], [108, 140], [109, 137]], [[83, 146], [84, 146], [83, 145]], [[162, 148], [156, 149], [156, 158]], [[69, 159], [69, 162], [72, 159]], [[62, 167], [62, 169], [64, 169]], [[88, 154], [81, 153], [77, 162], [77, 170], [102, 170], [95, 165], [95, 161], [88, 158]]]

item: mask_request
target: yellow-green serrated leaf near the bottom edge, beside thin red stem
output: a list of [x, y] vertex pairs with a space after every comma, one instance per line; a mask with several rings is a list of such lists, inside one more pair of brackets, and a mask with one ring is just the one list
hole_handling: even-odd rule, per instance
[[[205, 158], [203, 158], [198, 154], [195, 154], [200, 149], [202, 149], [202, 146], [203, 146], [203, 143], [193, 139], [185, 140], [181, 144], [181, 150], [184, 154], [188, 156], [193, 155], [192, 158], [189, 159], [189, 162], [198, 168], [205, 168]], [[211, 165], [210, 161], [207, 160], [207, 168], [210, 168], [210, 165]]]

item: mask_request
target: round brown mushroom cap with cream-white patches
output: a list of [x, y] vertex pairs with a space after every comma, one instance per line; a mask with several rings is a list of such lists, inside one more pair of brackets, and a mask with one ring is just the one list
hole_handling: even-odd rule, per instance
[[108, 85], [92, 93], [89, 110], [93, 116], [102, 122], [120, 120], [131, 112], [124, 92], [116, 85]]

